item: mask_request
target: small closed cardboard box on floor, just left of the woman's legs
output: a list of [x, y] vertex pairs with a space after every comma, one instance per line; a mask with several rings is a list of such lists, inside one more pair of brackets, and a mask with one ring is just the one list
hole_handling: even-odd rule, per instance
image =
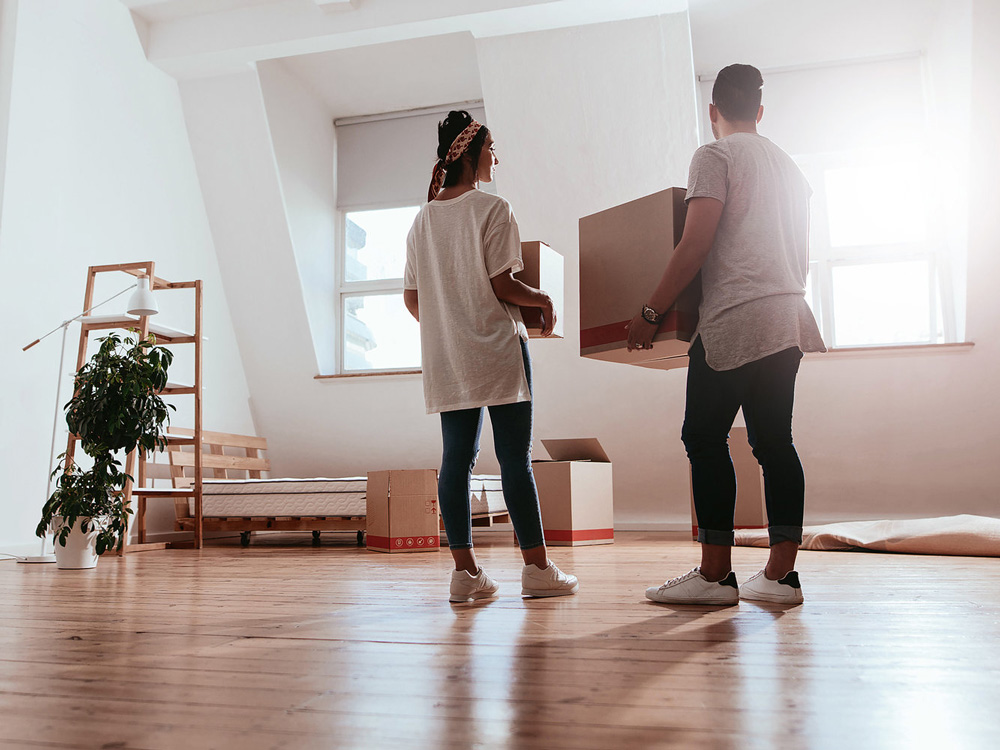
[[368, 549], [376, 552], [436, 552], [437, 470], [368, 472]]

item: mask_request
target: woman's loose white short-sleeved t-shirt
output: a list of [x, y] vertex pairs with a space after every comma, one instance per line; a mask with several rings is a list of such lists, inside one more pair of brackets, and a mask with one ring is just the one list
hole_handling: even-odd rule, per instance
[[406, 239], [403, 288], [417, 290], [428, 414], [531, 400], [521, 311], [490, 283], [523, 267], [503, 198], [470, 190], [420, 209]]

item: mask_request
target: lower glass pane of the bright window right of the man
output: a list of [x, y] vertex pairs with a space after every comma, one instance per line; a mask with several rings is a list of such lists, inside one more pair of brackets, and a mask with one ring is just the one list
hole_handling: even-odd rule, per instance
[[925, 260], [834, 267], [835, 346], [929, 342], [929, 284]]

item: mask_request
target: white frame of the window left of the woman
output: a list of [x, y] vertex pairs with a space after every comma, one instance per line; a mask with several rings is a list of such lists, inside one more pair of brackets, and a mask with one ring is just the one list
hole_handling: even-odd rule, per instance
[[347, 215], [361, 211], [380, 211], [395, 208], [417, 208], [422, 206], [422, 202], [394, 201], [380, 202], [370, 205], [358, 205], [340, 207], [336, 210], [336, 263], [334, 264], [334, 304], [336, 305], [335, 318], [337, 321], [337, 344], [334, 347], [336, 352], [336, 376], [358, 377], [365, 375], [408, 375], [422, 372], [420, 365], [409, 367], [379, 368], [368, 370], [349, 370], [345, 367], [347, 342], [347, 315], [345, 303], [349, 297], [374, 297], [382, 295], [403, 294], [403, 277], [388, 279], [374, 279], [365, 281], [347, 281]]

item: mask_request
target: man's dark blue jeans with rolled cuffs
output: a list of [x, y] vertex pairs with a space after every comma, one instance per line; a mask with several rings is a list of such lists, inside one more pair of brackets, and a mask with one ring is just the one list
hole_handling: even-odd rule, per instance
[[691, 461], [698, 541], [732, 546], [736, 472], [729, 429], [743, 408], [747, 438], [764, 470], [768, 537], [802, 542], [805, 476], [792, 444], [792, 402], [802, 352], [785, 349], [735, 370], [713, 370], [701, 337], [688, 353], [687, 404], [681, 439]]

